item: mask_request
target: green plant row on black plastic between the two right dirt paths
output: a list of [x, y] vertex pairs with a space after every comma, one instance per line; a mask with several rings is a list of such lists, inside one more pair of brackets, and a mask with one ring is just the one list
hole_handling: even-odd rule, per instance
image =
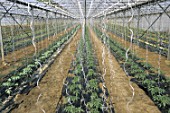
[[110, 47], [111, 53], [121, 67], [128, 76], [133, 77], [131, 81], [145, 90], [162, 113], [168, 113], [170, 108], [170, 79], [165, 78], [160, 69], [156, 69], [151, 64], [144, 62], [143, 59], [131, 51], [128, 52], [127, 60], [125, 55], [127, 51], [121, 44], [106, 35], [101, 37], [102, 32], [99, 29], [95, 29], [95, 31], [102, 41], [105, 38], [106, 45]]

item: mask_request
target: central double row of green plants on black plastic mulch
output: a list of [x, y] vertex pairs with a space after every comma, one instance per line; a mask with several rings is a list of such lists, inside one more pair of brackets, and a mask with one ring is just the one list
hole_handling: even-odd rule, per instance
[[[57, 107], [57, 112], [108, 113], [107, 103], [102, 98], [104, 95], [102, 87], [99, 86], [103, 81], [98, 73], [97, 61], [87, 30], [85, 37], [79, 42], [75, 56], [76, 59], [69, 70], [73, 76], [66, 78], [62, 91], [65, 102]], [[111, 110], [114, 112], [113, 108]]]

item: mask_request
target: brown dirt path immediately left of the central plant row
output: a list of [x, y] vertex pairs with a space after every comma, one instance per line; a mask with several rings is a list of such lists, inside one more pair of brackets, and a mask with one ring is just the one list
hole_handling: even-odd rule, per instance
[[[12, 113], [55, 113], [57, 102], [61, 96], [63, 79], [66, 78], [76, 46], [80, 39], [81, 30], [56, 58], [48, 72], [40, 82], [40, 89], [35, 87], [28, 95], [21, 95], [16, 101], [23, 103]], [[41, 96], [40, 96], [41, 94]], [[40, 97], [39, 97], [40, 96]], [[39, 101], [37, 103], [37, 98]]]

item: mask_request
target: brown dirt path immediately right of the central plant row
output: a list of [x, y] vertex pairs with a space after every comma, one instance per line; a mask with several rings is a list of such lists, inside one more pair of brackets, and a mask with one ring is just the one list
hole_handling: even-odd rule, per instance
[[[104, 73], [102, 65], [102, 51], [105, 47], [96, 37], [96, 34], [90, 30], [92, 43], [98, 58], [99, 68]], [[110, 99], [112, 100], [116, 113], [160, 113], [157, 106], [151, 99], [140, 89], [135, 83], [132, 86], [135, 91], [134, 99], [127, 107], [127, 103], [131, 100], [132, 89], [129, 85], [129, 78], [122, 70], [116, 59], [105, 47], [105, 67], [106, 67], [106, 87], [109, 90]], [[115, 72], [115, 74], [114, 74]]]

